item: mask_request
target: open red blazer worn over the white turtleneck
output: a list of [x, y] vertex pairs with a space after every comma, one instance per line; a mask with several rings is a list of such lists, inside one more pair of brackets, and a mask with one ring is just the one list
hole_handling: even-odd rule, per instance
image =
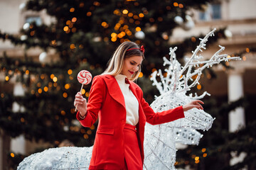
[[[129, 81], [129, 84], [129, 89], [139, 101], [137, 136], [143, 162], [145, 123], [148, 122], [152, 125], [167, 123], [184, 118], [184, 113], [182, 106], [154, 113], [144, 100], [142, 89], [132, 81]], [[99, 117], [89, 169], [124, 169], [123, 130], [126, 114], [124, 96], [114, 76], [105, 74], [94, 77], [85, 119], [82, 120], [79, 112], [77, 113], [78, 120], [85, 127], [91, 127]]]

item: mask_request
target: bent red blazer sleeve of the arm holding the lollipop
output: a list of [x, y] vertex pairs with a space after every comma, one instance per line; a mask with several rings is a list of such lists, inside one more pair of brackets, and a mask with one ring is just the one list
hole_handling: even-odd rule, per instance
[[79, 111], [76, 115], [76, 118], [80, 121], [82, 126], [91, 127], [97, 120], [98, 113], [102, 106], [104, 91], [104, 82], [102, 78], [99, 76], [94, 77], [90, 89], [90, 96], [87, 102], [85, 118], [80, 118]]

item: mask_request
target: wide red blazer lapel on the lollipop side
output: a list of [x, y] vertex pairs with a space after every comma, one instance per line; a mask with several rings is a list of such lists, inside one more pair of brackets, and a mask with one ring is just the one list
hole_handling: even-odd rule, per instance
[[124, 96], [114, 76], [105, 74], [103, 75], [103, 80], [107, 84], [107, 90], [110, 92], [110, 96], [125, 108]]

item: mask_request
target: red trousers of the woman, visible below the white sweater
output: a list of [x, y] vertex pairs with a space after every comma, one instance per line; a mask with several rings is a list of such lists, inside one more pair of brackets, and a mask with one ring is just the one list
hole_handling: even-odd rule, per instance
[[142, 158], [134, 125], [124, 126], [124, 159], [124, 170], [142, 170]]

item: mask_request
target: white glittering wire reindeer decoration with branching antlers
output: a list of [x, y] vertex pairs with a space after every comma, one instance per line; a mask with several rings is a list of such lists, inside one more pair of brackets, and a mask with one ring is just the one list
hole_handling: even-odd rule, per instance
[[[195, 94], [186, 95], [193, 86], [198, 84], [202, 70], [206, 67], [212, 67], [213, 64], [219, 64], [222, 61], [239, 60], [240, 57], [228, 57], [228, 55], [220, 55], [225, 48], [220, 46], [220, 50], [216, 52], [210, 60], [200, 61], [203, 56], [198, 55], [199, 51], [206, 49], [208, 38], [214, 35], [215, 29], [210, 31], [205, 38], [200, 39], [200, 45], [186, 62], [184, 67], [176, 60], [176, 47], [170, 48], [170, 60], [164, 57], [164, 66], [169, 65], [165, 69], [166, 77], [163, 76], [161, 70], [154, 72], [151, 76], [153, 85], [160, 92], [160, 96], [156, 97], [151, 103], [154, 111], [166, 111], [177, 106], [183, 106], [195, 99], [203, 98], [210, 95], [204, 92], [201, 96]], [[203, 66], [201, 66], [203, 64]], [[201, 66], [201, 67], [199, 67]], [[194, 70], [193, 70], [194, 68]], [[186, 75], [185, 75], [185, 71]], [[159, 76], [161, 81], [156, 81]], [[196, 76], [193, 81], [192, 77]], [[193, 83], [189, 84], [191, 80]], [[176, 147], [175, 143], [180, 142], [185, 145], [198, 145], [203, 135], [196, 130], [208, 130], [211, 128], [213, 118], [206, 112], [193, 108], [185, 113], [185, 118], [175, 120], [171, 123], [161, 125], [149, 125], [146, 123], [145, 140], [144, 140], [144, 169], [175, 169]], [[46, 149], [43, 152], [32, 154], [23, 159], [18, 166], [18, 170], [26, 169], [88, 169], [92, 147], [61, 147]]]

